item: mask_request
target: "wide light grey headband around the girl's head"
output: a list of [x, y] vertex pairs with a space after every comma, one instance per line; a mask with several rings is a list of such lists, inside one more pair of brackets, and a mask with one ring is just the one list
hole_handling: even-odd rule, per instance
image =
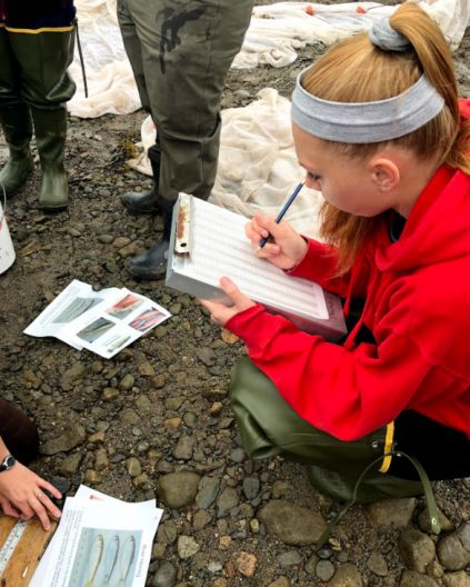
[[330, 102], [302, 87], [297, 78], [291, 117], [299, 128], [336, 142], [380, 142], [413, 132], [439, 115], [444, 99], [424, 76], [408, 90], [374, 102]]

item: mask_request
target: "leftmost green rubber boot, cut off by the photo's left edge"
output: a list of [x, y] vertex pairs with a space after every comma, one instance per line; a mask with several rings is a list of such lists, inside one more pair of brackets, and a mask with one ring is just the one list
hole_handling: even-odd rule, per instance
[[10, 157], [0, 171], [0, 196], [3, 186], [11, 196], [24, 185], [34, 169], [29, 143], [32, 137], [31, 113], [27, 105], [12, 105], [0, 108], [0, 122], [7, 140]]

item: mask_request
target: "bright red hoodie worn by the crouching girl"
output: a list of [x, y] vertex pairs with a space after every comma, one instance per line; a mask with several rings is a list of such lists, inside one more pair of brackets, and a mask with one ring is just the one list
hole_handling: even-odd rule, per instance
[[[470, 100], [462, 101], [470, 117]], [[383, 219], [348, 279], [332, 280], [331, 249], [309, 241], [294, 276], [348, 300], [366, 298], [343, 346], [257, 305], [226, 327], [306, 420], [342, 440], [412, 409], [470, 438], [470, 177], [440, 168], [397, 242]], [[364, 324], [376, 344], [354, 342]]]

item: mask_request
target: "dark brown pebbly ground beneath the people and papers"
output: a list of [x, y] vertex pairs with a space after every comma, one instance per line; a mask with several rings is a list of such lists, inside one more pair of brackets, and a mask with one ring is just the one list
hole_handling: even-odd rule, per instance
[[[289, 97], [296, 73], [323, 49], [302, 50], [289, 68], [231, 70], [222, 107], [246, 106], [266, 87]], [[462, 94], [470, 96], [469, 31], [454, 58]], [[296, 505], [322, 513], [329, 501], [312, 490], [300, 465], [279, 459], [253, 464], [240, 455], [227, 387], [230, 369], [243, 354], [241, 344], [222, 337], [192, 299], [167, 289], [163, 280], [139, 283], [126, 270], [126, 260], [150, 246], [161, 229], [158, 218], [130, 216], [119, 200], [122, 192], [150, 185], [126, 166], [142, 119], [143, 113], [136, 112], [70, 120], [68, 211], [46, 215], [39, 210], [38, 170], [8, 202], [17, 261], [0, 277], [1, 394], [36, 419], [43, 445], [58, 439], [56, 449], [42, 455], [33, 468], [47, 478], [68, 479], [70, 495], [86, 482], [126, 500], [154, 497], [156, 493], [160, 497], [159, 479], [180, 470], [217, 480], [219, 509], [216, 503], [207, 509], [194, 504], [179, 510], [163, 505], [164, 531], [156, 540], [148, 585], [267, 586], [274, 580], [279, 587], [324, 585], [309, 570], [312, 546], [288, 546], [257, 519], [259, 509], [276, 497], [287, 496]], [[4, 161], [1, 141], [0, 160]], [[151, 297], [173, 317], [110, 360], [52, 338], [23, 335], [26, 326], [72, 279], [96, 289], [128, 287]], [[258, 484], [250, 499], [243, 494], [247, 478]], [[236, 497], [224, 509], [221, 496], [230, 497], [229, 489]], [[437, 496], [453, 524], [469, 520], [468, 484], [438, 484]], [[207, 514], [206, 524], [194, 521], [201, 511]], [[196, 540], [196, 556], [181, 556], [180, 536]], [[221, 543], [223, 536], [230, 539]], [[356, 507], [336, 536], [337, 548], [330, 556], [334, 566], [353, 564], [363, 585], [399, 584], [406, 566], [398, 548], [399, 530], [372, 529], [364, 508]], [[240, 551], [256, 557], [257, 571], [251, 578], [237, 573], [233, 561]], [[386, 560], [384, 576], [368, 565], [374, 551]], [[173, 583], [153, 577], [162, 561], [174, 569]], [[434, 580], [442, 585], [439, 578]]]

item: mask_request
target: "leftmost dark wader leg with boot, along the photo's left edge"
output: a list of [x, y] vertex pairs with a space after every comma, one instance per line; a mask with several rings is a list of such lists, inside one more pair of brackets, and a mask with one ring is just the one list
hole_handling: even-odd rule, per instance
[[18, 68], [4, 29], [0, 29], [0, 125], [10, 151], [0, 171], [0, 196], [1, 186], [7, 196], [11, 196], [26, 182], [34, 165], [29, 148], [32, 137], [31, 115], [18, 93]]

